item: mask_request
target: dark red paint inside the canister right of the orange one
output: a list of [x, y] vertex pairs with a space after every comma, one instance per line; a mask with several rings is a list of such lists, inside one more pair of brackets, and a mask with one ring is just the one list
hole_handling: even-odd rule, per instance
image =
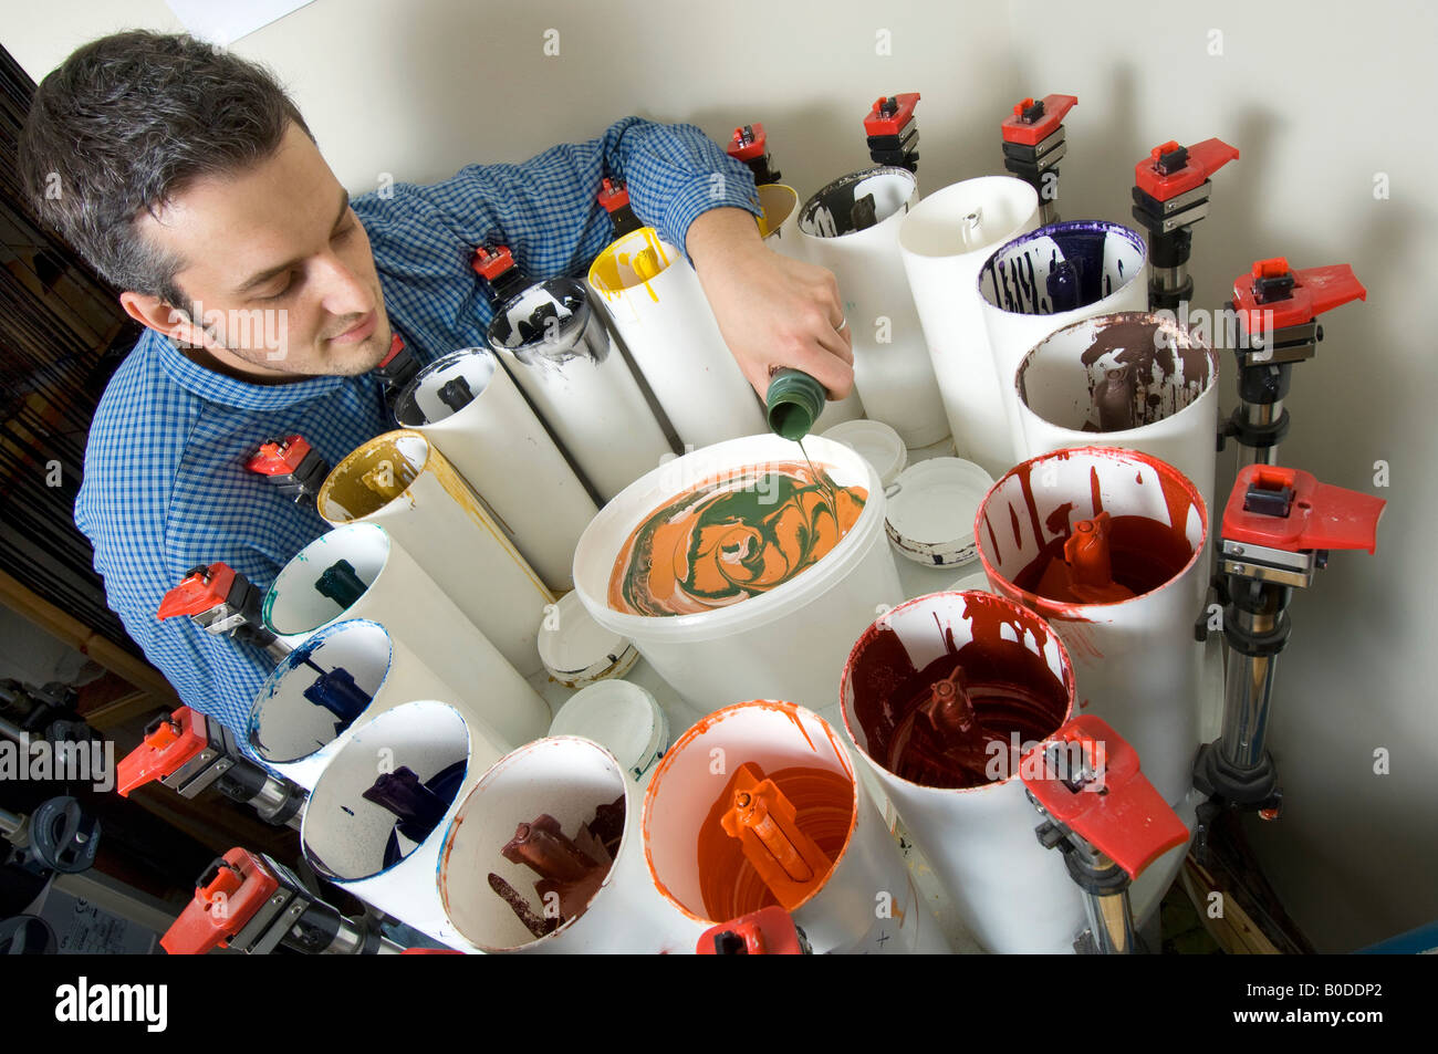
[[[873, 625], [856, 649], [854, 716], [867, 753], [922, 787], [968, 788], [1017, 772], [1011, 745], [1054, 733], [1068, 712], [1068, 690], [1048, 669], [1047, 633], [994, 602], [965, 600], [971, 640], [935, 613], [943, 654], [915, 669], [899, 634]], [[1027, 643], [1027, 641], [1031, 641]]]

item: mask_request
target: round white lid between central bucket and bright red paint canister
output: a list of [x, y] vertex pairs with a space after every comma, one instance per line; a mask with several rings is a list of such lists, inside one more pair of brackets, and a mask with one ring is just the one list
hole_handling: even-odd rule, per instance
[[932, 457], [905, 469], [884, 490], [889, 541], [926, 567], [974, 559], [974, 518], [992, 486], [984, 469], [961, 457]]

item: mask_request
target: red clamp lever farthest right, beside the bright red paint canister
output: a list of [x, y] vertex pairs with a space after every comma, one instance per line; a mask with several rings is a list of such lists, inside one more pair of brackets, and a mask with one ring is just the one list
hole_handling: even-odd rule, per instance
[[1313, 473], [1250, 464], [1224, 509], [1224, 541], [1284, 552], [1378, 548], [1382, 498], [1320, 483]]

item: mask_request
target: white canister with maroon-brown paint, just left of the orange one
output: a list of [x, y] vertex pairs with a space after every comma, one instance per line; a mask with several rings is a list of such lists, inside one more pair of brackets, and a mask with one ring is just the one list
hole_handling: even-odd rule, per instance
[[[603, 884], [581, 913], [565, 910], [561, 917], [568, 917], [558, 929], [536, 938], [493, 890], [489, 876], [503, 879], [535, 915], [542, 915], [538, 876], [500, 850], [519, 824], [545, 814], [575, 840], [598, 807], [618, 798], [624, 799], [624, 828]], [[614, 755], [588, 739], [541, 739], [500, 759], [460, 805], [444, 840], [439, 886], [450, 923], [485, 952], [693, 952], [703, 926], [686, 919], [654, 889], [644, 866], [641, 805], [643, 791], [624, 775]], [[561, 896], [557, 906], [562, 903]]]

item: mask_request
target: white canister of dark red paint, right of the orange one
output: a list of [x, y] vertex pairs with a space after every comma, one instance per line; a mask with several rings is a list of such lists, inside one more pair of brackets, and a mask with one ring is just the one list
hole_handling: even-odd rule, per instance
[[[922, 693], [955, 666], [975, 716], [1004, 741], [966, 758], [984, 765], [986, 781], [936, 776], [942, 765], [906, 753], [929, 732], [919, 728], [926, 715], [909, 703], [926, 702]], [[1017, 768], [1024, 751], [1074, 712], [1073, 669], [1044, 620], [986, 592], [935, 592], [900, 604], [854, 644], [840, 702], [844, 730], [974, 938], [995, 953], [1073, 952], [1083, 894], [1063, 856], [1034, 835], [1038, 812]]]

